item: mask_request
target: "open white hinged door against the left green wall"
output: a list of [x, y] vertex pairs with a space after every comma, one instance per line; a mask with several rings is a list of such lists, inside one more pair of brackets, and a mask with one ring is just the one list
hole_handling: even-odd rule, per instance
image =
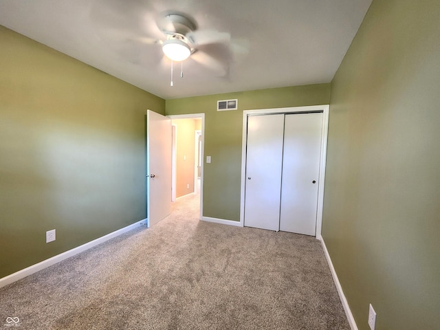
[[171, 120], [146, 112], [146, 198], [148, 227], [171, 213]]

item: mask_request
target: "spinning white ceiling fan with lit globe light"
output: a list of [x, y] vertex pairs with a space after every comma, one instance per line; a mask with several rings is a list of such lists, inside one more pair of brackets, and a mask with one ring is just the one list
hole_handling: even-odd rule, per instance
[[[183, 12], [168, 10], [157, 15], [155, 25], [161, 36], [151, 19], [148, 24], [143, 23], [145, 15], [131, 12], [132, 19], [129, 21], [127, 15], [122, 16], [121, 12], [118, 8], [102, 10], [101, 7], [96, 11], [98, 19], [94, 18], [100, 35], [111, 41], [113, 48], [119, 47], [121, 57], [136, 58], [137, 62], [141, 62], [142, 47], [160, 45], [164, 56], [171, 61], [181, 62], [190, 58], [223, 78], [230, 78], [231, 65], [248, 54], [247, 41], [231, 39], [228, 32], [199, 29], [195, 19]], [[151, 38], [148, 34], [156, 37]]]

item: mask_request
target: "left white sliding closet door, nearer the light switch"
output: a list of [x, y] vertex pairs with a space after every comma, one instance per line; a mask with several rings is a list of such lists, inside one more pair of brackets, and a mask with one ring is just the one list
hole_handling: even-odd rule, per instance
[[284, 114], [248, 117], [245, 225], [278, 230]]

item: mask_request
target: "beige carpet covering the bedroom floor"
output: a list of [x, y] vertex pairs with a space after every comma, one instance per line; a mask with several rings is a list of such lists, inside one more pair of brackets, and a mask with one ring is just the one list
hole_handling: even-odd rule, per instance
[[0, 289], [0, 327], [350, 329], [314, 237], [199, 221], [198, 197], [173, 208]]

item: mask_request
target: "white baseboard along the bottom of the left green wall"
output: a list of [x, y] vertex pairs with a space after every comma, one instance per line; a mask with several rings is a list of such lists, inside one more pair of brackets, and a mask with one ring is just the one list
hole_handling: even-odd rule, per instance
[[78, 254], [80, 252], [83, 252], [85, 250], [93, 248], [94, 246], [96, 246], [100, 243], [104, 243], [105, 241], [108, 241], [109, 239], [113, 239], [114, 237], [119, 236], [120, 234], [124, 234], [124, 232], [128, 232], [129, 230], [132, 230], [139, 225], [146, 225], [146, 223], [147, 223], [146, 220], [147, 219], [137, 221], [131, 225], [127, 225], [124, 228], [116, 230], [115, 232], [111, 232], [110, 234], [104, 235], [102, 237], [99, 237], [98, 239], [94, 239], [93, 241], [89, 241], [88, 243], [85, 243], [85, 244], [80, 245], [76, 248], [73, 248], [72, 250], [63, 252], [61, 254], [57, 254], [56, 256], [52, 256], [52, 258], [43, 260], [40, 263], [36, 263], [35, 265], [32, 265], [32, 266], [27, 267], [23, 270], [19, 270], [18, 272], [15, 272], [13, 274], [10, 274], [8, 276], [0, 278], [0, 287], [4, 287], [5, 285], [8, 285], [10, 283], [14, 283], [15, 281], [19, 281], [21, 278], [24, 278], [26, 276], [29, 276], [29, 275], [34, 274], [36, 272], [39, 272], [40, 270], [43, 270], [49, 266], [52, 266], [56, 263], [59, 263], [60, 261], [63, 261], [67, 258], [70, 258], [71, 256], [74, 256], [75, 254]]

